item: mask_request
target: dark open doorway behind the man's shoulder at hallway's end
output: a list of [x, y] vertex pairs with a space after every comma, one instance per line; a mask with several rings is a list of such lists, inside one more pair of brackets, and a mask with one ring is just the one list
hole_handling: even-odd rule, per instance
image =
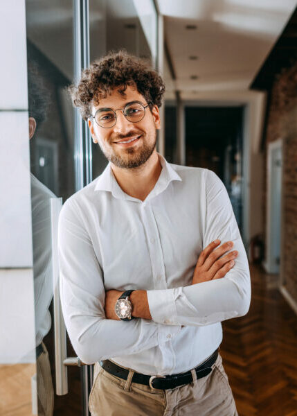
[[242, 234], [244, 106], [185, 107], [186, 165], [208, 168], [224, 182]]

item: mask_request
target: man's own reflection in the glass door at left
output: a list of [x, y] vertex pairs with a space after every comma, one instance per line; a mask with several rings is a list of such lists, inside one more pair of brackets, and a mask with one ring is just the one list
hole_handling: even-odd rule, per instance
[[[46, 117], [49, 94], [39, 77], [37, 66], [28, 64], [29, 138]], [[31, 173], [31, 207], [33, 235], [33, 272], [35, 295], [35, 336], [37, 367], [37, 400], [39, 415], [53, 414], [53, 382], [48, 351], [43, 342], [51, 329], [48, 308], [53, 297], [51, 254], [51, 198], [54, 193]], [[46, 386], [42, 389], [41, 385]]]

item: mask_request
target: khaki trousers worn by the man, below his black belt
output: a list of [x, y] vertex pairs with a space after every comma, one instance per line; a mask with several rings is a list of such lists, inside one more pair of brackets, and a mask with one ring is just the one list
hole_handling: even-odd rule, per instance
[[92, 416], [237, 416], [228, 377], [219, 355], [208, 376], [172, 390], [154, 390], [94, 367], [89, 396]]

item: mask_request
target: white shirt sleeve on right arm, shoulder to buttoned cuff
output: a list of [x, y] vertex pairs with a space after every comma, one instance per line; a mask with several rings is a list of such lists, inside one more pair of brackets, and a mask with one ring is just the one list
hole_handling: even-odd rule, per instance
[[233, 241], [235, 266], [222, 279], [186, 287], [147, 291], [154, 322], [201, 326], [245, 315], [251, 301], [249, 263], [228, 193], [222, 181], [205, 169], [206, 218], [203, 246], [215, 239]]

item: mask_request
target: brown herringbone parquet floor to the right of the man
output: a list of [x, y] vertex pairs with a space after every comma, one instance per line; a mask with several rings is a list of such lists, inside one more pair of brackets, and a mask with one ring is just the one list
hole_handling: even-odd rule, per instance
[[223, 323], [221, 354], [240, 416], [297, 416], [297, 315], [251, 266], [249, 313]]

